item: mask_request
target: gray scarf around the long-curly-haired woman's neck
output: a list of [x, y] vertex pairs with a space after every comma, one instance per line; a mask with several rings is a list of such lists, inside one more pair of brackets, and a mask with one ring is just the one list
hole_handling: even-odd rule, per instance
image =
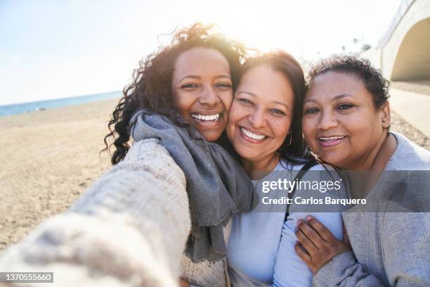
[[233, 214], [254, 206], [254, 187], [245, 171], [196, 129], [178, 127], [162, 115], [138, 110], [129, 127], [134, 141], [160, 139], [185, 174], [192, 222], [185, 254], [193, 262], [226, 257], [223, 227]]

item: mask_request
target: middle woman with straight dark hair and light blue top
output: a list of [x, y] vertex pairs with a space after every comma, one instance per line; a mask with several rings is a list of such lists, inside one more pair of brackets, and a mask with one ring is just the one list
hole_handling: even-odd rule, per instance
[[[227, 134], [242, 166], [254, 179], [254, 189], [262, 191], [265, 181], [292, 179], [299, 170], [304, 172], [304, 181], [312, 177], [307, 170], [320, 171], [318, 179], [322, 181], [325, 177], [332, 180], [325, 167], [301, 158], [300, 122], [306, 86], [297, 60], [284, 51], [264, 53], [250, 58], [241, 75], [228, 115]], [[309, 201], [313, 196], [321, 200], [318, 196], [323, 193], [308, 191], [297, 191], [295, 199]], [[294, 229], [304, 217], [300, 204], [290, 205], [286, 214], [287, 206], [276, 206], [285, 204], [284, 197], [275, 199], [262, 197], [254, 210], [233, 217], [228, 241], [233, 286], [311, 286], [312, 274], [294, 252]], [[339, 212], [315, 212], [315, 217], [339, 236]]]

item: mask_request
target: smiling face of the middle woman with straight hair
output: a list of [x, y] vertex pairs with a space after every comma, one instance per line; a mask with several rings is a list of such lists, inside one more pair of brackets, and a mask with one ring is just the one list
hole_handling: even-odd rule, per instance
[[289, 132], [293, 97], [287, 77], [268, 65], [242, 75], [227, 125], [228, 139], [242, 159], [263, 162], [273, 157]]

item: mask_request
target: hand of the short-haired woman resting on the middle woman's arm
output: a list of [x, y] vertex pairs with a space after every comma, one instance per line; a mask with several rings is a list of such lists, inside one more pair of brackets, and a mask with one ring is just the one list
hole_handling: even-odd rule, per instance
[[327, 227], [314, 217], [306, 217], [297, 222], [297, 239], [294, 246], [297, 255], [315, 274], [321, 267], [329, 262], [334, 255], [352, 250], [348, 234], [344, 226], [344, 238], [337, 240]]

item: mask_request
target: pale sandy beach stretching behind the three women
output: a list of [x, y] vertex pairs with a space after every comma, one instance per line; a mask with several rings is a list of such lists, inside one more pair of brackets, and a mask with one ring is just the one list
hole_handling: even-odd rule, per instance
[[[110, 167], [104, 148], [117, 100], [0, 117], [0, 250], [63, 212]], [[394, 131], [430, 149], [430, 140], [393, 115]]]

